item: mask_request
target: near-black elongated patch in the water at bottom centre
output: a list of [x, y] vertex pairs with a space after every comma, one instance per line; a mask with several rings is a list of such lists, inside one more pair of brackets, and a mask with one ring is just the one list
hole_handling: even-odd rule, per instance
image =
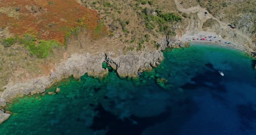
[[131, 115], [129, 118], [121, 120], [118, 116], [106, 111], [103, 106], [99, 104], [95, 109], [95, 111], [98, 112], [98, 116], [95, 116], [90, 129], [95, 131], [105, 129], [108, 131], [106, 135], [141, 135], [149, 126], [160, 123], [169, 117], [171, 109], [167, 108], [166, 110], [167, 111], [161, 113], [159, 116], [140, 118]]

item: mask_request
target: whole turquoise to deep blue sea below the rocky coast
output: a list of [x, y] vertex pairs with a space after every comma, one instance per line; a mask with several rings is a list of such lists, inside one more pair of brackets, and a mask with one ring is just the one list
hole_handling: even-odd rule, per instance
[[213, 45], [164, 57], [138, 79], [85, 74], [46, 91], [55, 95], [18, 98], [0, 135], [256, 135], [254, 59]]

